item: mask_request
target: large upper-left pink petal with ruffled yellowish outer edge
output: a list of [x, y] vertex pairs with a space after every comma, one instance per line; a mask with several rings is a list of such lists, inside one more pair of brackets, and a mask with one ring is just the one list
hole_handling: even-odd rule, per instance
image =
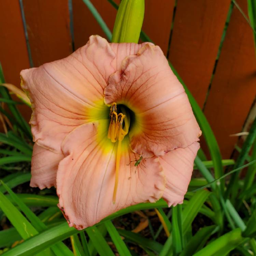
[[65, 136], [91, 118], [90, 110], [103, 103], [114, 58], [109, 43], [96, 35], [67, 58], [20, 73], [32, 104], [30, 124], [38, 145], [59, 153]]

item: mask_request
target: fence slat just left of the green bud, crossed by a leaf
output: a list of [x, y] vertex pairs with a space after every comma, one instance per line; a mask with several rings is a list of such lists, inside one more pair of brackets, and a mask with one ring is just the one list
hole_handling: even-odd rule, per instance
[[[117, 4], [120, 2], [115, 1]], [[107, 0], [91, 0], [101, 17], [113, 31], [116, 9]], [[91, 14], [83, 0], [73, 0], [73, 20], [74, 20], [74, 46], [75, 49], [85, 45], [90, 35], [98, 34], [106, 38], [94, 16]]]

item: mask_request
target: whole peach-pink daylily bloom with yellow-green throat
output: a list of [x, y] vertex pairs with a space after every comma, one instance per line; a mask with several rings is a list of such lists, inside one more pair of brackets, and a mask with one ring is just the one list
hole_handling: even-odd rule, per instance
[[93, 35], [21, 77], [33, 110], [30, 185], [56, 186], [70, 226], [161, 197], [183, 202], [201, 131], [158, 46]]

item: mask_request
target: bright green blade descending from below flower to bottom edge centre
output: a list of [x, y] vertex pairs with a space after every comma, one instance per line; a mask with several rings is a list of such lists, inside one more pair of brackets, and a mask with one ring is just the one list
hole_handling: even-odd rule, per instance
[[120, 256], [129, 256], [131, 255], [125, 242], [120, 237], [119, 233], [117, 232], [115, 226], [111, 221], [106, 221], [105, 223], [106, 229], [108, 230], [110, 237], [113, 243], [116, 246], [116, 249]]

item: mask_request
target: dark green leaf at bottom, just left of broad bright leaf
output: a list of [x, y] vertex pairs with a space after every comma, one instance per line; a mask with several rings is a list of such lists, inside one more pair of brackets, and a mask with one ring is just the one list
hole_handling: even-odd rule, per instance
[[200, 250], [213, 234], [213, 230], [217, 230], [215, 225], [203, 227], [189, 240], [186, 247], [179, 256], [192, 256]]

